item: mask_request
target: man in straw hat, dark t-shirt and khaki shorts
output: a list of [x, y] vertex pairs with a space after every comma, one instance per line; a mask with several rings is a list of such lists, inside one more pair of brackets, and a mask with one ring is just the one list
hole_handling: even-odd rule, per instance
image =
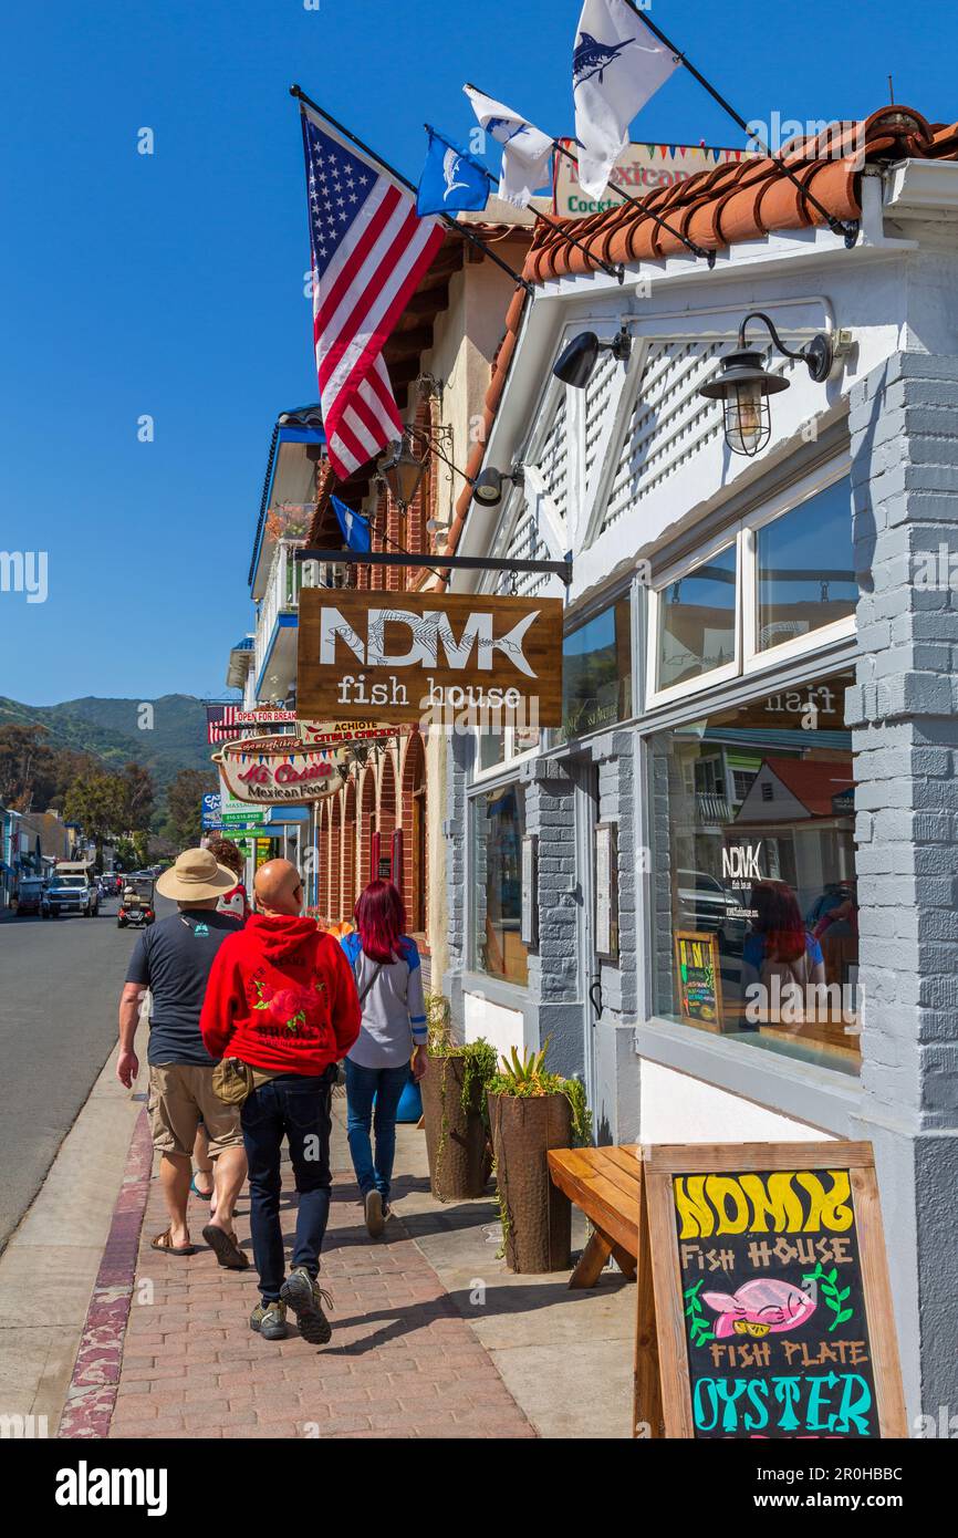
[[185, 849], [157, 880], [157, 892], [172, 897], [178, 912], [145, 929], [132, 954], [120, 998], [120, 1058], [117, 1078], [129, 1089], [140, 1070], [134, 1035], [145, 989], [152, 995], [149, 1017], [149, 1123], [161, 1155], [160, 1183], [169, 1227], [152, 1247], [166, 1255], [194, 1255], [186, 1220], [192, 1146], [200, 1121], [209, 1138], [215, 1169], [215, 1215], [203, 1238], [220, 1266], [244, 1270], [248, 1257], [237, 1244], [232, 1212], [246, 1180], [246, 1154], [238, 1106], [225, 1104], [212, 1087], [215, 1058], [203, 1046], [200, 1010], [217, 950], [237, 934], [237, 920], [218, 914], [223, 892], [235, 874], [208, 849]]

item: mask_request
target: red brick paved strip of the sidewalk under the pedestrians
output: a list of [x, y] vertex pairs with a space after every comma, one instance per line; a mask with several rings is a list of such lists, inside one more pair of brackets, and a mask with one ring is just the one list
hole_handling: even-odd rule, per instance
[[[252, 1267], [221, 1270], [211, 1250], [188, 1260], [151, 1250], [151, 1238], [166, 1227], [154, 1178], [111, 1436], [535, 1436], [403, 1223], [394, 1218], [381, 1240], [369, 1240], [346, 1172], [343, 1101], [334, 1104], [338, 1173], [321, 1273], [335, 1303], [329, 1346], [251, 1332], [258, 1297]], [[294, 1200], [283, 1203], [288, 1240]], [[205, 1212], [194, 1200], [197, 1240]], [[244, 1195], [237, 1232], [252, 1253], [248, 1213]]]

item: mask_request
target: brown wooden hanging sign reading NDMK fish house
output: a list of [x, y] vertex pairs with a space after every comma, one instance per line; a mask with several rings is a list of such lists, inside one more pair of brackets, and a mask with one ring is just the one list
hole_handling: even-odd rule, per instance
[[300, 595], [300, 717], [558, 726], [561, 672], [561, 598]]

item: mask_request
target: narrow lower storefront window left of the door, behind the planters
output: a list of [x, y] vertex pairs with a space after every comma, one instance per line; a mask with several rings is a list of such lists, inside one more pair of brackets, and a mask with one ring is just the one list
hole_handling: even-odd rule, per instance
[[524, 987], [529, 980], [521, 941], [521, 846], [524, 792], [497, 786], [472, 801], [472, 966]]

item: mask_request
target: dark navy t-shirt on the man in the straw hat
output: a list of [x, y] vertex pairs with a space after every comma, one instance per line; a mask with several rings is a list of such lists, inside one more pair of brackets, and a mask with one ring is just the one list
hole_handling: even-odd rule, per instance
[[192, 1063], [211, 1067], [215, 1058], [203, 1046], [200, 1010], [212, 958], [240, 929], [235, 918], [214, 909], [174, 914], [145, 929], [126, 974], [152, 994], [148, 1061]]

